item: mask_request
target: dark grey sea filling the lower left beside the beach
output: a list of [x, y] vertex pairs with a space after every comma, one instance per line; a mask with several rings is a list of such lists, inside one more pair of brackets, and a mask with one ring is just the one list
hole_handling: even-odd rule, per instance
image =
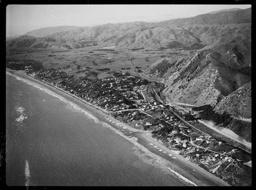
[[6, 79], [7, 185], [185, 185], [93, 113]]

